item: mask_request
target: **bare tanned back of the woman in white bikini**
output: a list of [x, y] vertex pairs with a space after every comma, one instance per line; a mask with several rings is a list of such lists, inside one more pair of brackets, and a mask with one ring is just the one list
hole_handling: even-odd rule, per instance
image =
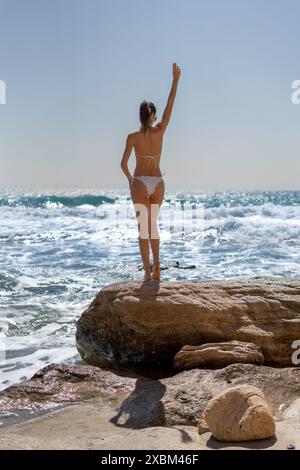
[[155, 159], [156, 161], [149, 161], [148, 158], [137, 157], [134, 176], [161, 176], [159, 162], [164, 135], [162, 129], [160, 129], [159, 127], [150, 127], [147, 133], [137, 131], [133, 135], [133, 148], [136, 156], [157, 156], [157, 158]]

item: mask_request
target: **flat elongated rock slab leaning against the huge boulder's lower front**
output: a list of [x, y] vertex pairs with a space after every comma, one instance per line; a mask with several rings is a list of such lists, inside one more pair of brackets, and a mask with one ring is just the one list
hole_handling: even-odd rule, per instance
[[230, 364], [262, 364], [261, 349], [253, 343], [226, 341], [201, 346], [183, 346], [173, 360], [176, 370], [197, 367], [226, 367]]

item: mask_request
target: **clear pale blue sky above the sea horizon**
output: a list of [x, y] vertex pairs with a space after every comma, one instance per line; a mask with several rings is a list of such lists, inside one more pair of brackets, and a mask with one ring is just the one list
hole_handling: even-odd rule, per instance
[[[298, 0], [0, 0], [0, 190], [125, 189], [139, 105], [174, 189], [299, 190]], [[135, 156], [129, 160], [134, 171]]]

